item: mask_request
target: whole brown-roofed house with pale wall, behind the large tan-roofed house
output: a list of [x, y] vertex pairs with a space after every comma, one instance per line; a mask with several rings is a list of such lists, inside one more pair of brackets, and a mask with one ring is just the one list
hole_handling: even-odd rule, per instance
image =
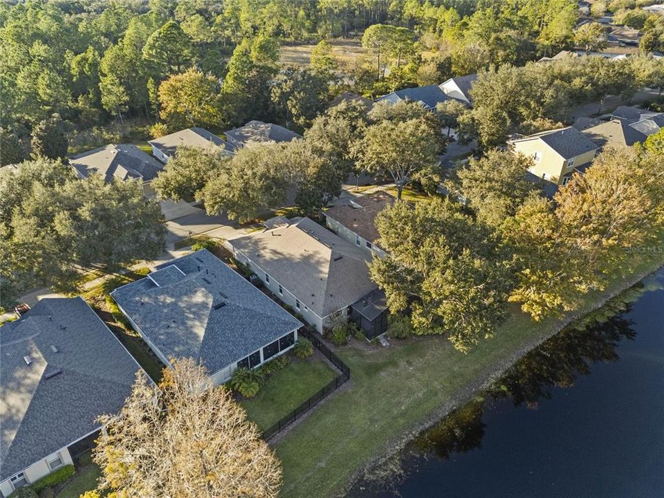
[[327, 228], [345, 241], [355, 244], [378, 257], [385, 252], [376, 241], [380, 237], [376, 228], [376, 214], [394, 204], [394, 197], [378, 192], [353, 199], [340, 198], [331, 208], [324, 210]]

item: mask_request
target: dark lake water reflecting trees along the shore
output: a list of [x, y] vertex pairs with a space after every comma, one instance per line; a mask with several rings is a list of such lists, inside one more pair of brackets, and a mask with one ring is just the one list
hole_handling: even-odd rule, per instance
[[663, 283], [529, 353], [413, 441], [400, 477], [349, 496], [664, 497]]

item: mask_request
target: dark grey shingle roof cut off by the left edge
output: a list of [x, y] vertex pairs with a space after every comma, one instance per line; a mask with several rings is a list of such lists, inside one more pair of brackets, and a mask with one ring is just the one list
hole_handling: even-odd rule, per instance
[[0, 481], [119, 412], [140, 370], [80, 297], [42, 299], [0, 328], [0, 347]]

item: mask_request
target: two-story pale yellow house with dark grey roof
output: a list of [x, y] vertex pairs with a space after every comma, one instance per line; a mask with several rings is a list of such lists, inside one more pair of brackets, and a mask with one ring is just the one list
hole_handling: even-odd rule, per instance
[[508, 143], [513, 151], [533, 159], [532, 174], [556, 185], [564, 185], [573, 172], [587, 167], [599, 148], [573, 127], [541, 131]]

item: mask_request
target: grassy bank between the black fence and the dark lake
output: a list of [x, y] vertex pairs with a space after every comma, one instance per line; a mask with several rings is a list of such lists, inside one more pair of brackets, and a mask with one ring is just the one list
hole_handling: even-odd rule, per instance
[[[660, 264], [651, 259], [639, 271], [655, 270]], [[622, 281], [617, 278], [615, 287]], [[587, 311], [597, 299], [598, 295], [587, 296]], [[533, 322], [513, 308], [495, 338], [482, 341], [467, 355], [441, 337], [393, 341], [385, 349], [340, 349], [351, 369], [351, 385], [275, 445], [284, 468], [282, 496], [341, 495], [356, 471], [441, 407], [449, 409], [468, 399], [491, 372], [515, 360], [524, 344], [555, 333], [560, 325], [560, 320]]]

